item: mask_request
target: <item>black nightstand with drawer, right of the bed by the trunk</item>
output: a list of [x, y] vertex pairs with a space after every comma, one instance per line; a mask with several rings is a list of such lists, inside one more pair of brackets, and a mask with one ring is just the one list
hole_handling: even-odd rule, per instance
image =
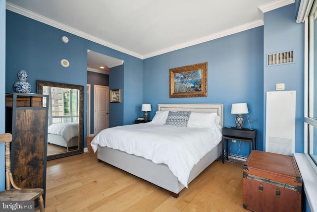
[[257, 143], [257, 130], [249, 130], [247, 128], [237, 129], [234, 127], [224, 127], [222, 128], [222, 163], [224, 163], [224, 141], [227, 144], [227, 159], [229, 154], [229, 147], [228, 142], [229, 140], [236, 140], [236, 141], [244, 141], [249, 142], [249, 153], [251, 152], [251, 143], [252, 143], [252, 150], [256, 149]]

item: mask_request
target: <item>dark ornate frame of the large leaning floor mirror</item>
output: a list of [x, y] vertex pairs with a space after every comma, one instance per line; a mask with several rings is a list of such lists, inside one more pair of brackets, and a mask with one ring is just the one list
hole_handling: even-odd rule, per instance
[[66, 84], [59, 82], [50, 82], [37, 80], [37, 93], [43, 94], [43, 86], [50, 87], [65, 87], [71, 89], [79, 90], [79, 121], [78, 121], [78, 150], [73, 150], [69, 152], [62, 152], [59, 154], [47, 155], [47, 160], [53, 160], [61, 157], [67, 157], [70, 155], [81, 154], [84, 152], [84, 86], [82, 85], [74, 85], [74, 84]]

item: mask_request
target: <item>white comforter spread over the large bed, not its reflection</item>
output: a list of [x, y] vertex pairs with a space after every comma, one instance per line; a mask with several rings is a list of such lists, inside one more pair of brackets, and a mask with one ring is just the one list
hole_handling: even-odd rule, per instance
[[187, 188], [193, 166], [221, 141], [221, 127], [185, 128], [162, 124], [136, 124], [108, 128], [91, 142], [165, 163]]

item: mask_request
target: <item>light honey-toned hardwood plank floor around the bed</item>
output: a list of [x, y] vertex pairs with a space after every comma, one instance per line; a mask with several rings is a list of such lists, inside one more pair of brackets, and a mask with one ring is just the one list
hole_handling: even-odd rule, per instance
[[48, 161], [46, 212], [242, 212], [243, 161], [213, 162], [180, 192], [170, 192], [89, 152]]

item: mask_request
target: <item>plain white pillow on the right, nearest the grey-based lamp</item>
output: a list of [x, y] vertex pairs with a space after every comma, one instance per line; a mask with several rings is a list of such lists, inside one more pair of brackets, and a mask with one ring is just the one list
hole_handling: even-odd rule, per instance
[[212, 128], [214, 125], [219, 125], [219, 123], [220, 117], [216, 113], [192, 112], [187, 127]]

